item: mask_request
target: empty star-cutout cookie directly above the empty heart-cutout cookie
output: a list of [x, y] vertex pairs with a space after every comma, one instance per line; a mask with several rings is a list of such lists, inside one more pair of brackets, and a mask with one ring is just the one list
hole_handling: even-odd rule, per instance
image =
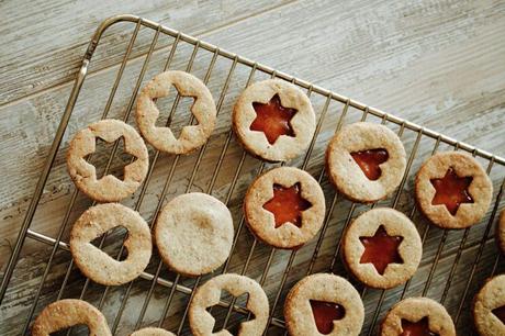
[[[124, 138], [124, 150], [135, 160], [124, 167], [123, 180], [113, 175], [97, 179], [97, 170], [86, 157], [96, 150], [96, 141], [112, 143]], [[67, 169], [74, 183], [85, 194], [99, 202], [119, 202], [131, 195], [144, 181], [149, 168], [149, 156], [138, 133], [122, 121], [106, 119], [90, 124], [71, 139], [67, 152]]]

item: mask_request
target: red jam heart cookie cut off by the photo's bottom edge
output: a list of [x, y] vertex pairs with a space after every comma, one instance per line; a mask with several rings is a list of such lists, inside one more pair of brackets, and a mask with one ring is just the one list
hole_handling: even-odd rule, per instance
[[318, 273], [303, 278], [291, 289], [284, 318], [291, 336], [352, 336], [361, 331], [364, 309], [346, 279]]

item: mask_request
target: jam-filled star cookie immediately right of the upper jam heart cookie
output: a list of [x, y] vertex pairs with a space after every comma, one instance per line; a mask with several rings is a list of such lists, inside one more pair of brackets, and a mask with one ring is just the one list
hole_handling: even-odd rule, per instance
[[423, 164], [415, 181], [420, 211], [442, 228], [464, 228], [487, 212], [493, 184], [479, 163], [461, 152], [438, 153]]

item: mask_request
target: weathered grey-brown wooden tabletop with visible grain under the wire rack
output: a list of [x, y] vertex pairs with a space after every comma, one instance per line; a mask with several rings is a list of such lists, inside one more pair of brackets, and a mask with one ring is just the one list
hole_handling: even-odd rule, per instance
[[[68, 99], [71, 88], [70, 79], [76, 71], [81, 54], [86, 49], [89, 34], [98, 22], [109, 14], [109, 11], [111, 13], [119, 11], [114, 4], [98, 3], [94, 8], [86, 3], [60, 2], [60, 7], [53, 3], [50, 8], [45, 8], [45, 11], [42, 11], [42, 8], [38, 10], [46, 15], [50, 13], [49, 19], [47, 19], [49, 22], [57, 22], [58, 20], [70, 22], [68, 12], [78, 12], [78, 18], [71, 20], [75, 24], [65, 25], [65, 30], [67, 30], [65, 33], [56, 29], [57, 25], [54, 25], [43, 34], [45, 43], [36, 46], [32, 45], [31, 38], [35, 37], [31, 34], [27, 34], [30, 37], [16, 38], [15, 36], [19, 37], [20, 35], [15, 35], [15, 30], [12, 27], [22, 27], [26, 25], [27, 20], [33, 21], [32, 16], [23, 14], [19, 20], [9, 19], [11, 21], [5, 26], [8, 34], [0, 35], [2, 42], [5, 40], [2, 45], [12, 45], [11, 51], [14, 51], [5, 55], [3, 52], [0, 54], [2, 70], [3, 65], [8, 64], [7, 77], [2, 76], [0, 79], [1, 102], [4, 103], [3, 107], [0, 107], [0, 138], [2, 139], [0, 165], [5, 181], [4, 187], [0, 190], [0, 217], [2, 219], [2, 242], [4, 243], [0, 247], [2, 251], [0, 262], [7, 260], [9, 245], [15, 240], [27, 201], [33, 192]], [[505, 41], [502, 37], [505, 30], [505, 4], [502, 1], [389, 1], [388, 3], [303, 1], [287, 4], [250, 2], [242, 7], [227, 2], [218, 2], [217, 5], [211, 1], [201, 1], [184, 4], [177, 2], [175, 4], [177, 10], [173, 11], [171, 10], [173, 7], [167, 9], [165, 4], [155, 2], [150, 4], [150, 7], [144, 4], [142, 9], [137, 10], [139, 11], [137, 13], [148, 19], [159, 19], [161, 22], [166, 20], [164, 23], [175, 29], [198, 33], [213, 44], [251, 59], [452, 135], [460, 141], [471, 143], [497, 155], [505, 155], [504, 132], [502, 131], [505, 122]], [[12, 3], [1, 2], [0, 7], [9, 9], [9, 11], [0, 10], [2, 15], [8, 12], [14, 13], [10, 16], [15, 14], [21, 16], [19, 9], [16, 10]], [[50, 10], [58, 8], [59, 10]], [[88, 10], [88, 13], [92, 11], [96, 14], [87, 16], [83, 13], [86, 12], [85, 9]], [[131, 10], [136, 10], [136, 7], [132, 4]], [[132, 27], [131, 24], [119, 24], [111, 27], [93, 56], [92, 71], [88, 76], [76, 104], [61, 149], [58, 152], [33, 221], [32, 229], [52, 237], [57, 234], [66, 205], [74, 192], [74, 186], [64, 165], [67, 142], [77, 130], [97, 120], [102, 113], [112, 82], [117, 74], [119, 61], [121, 61], [128, 43]], [[83, 34], [83, 31], [87, 33]], [[125, 110], [152, 38], [153, 32], [141, 30], [110, 110], [112, 117], [122, 117], [127, 112]], [[172, 38], [160, 36], [156, 52], [142, 80], [143, 83], [162, 69], [172, 42]], [[42, 58], [27, 57], [23, 60], [23, 57], [27, 55], [24, 54], [25, 49], [30, 49], [30, 53], [40, 52], [41, 55], [45, 55], [41, 57], [47, 59], [48, 68], [42, 74], [34, 71], [40, 66]], [[191, 52], [191, 46], [180, 44], [170, 68], [186, 69]], [[200, 51], [191, 72], [203, 79], [211, 56], [210, 53]], [[8, 61], [4, 63], [4, 59]], [[20, 63], [11, 66], [12, 59], [19, 59]], [[222, 94], [223, 83], [231, 66], [231, 60], [220, 58], [212, 70], [209, 88], [215, 100], [218, 100]], [[139, 212], [146, 220], [152, 221], [158, 201], [165, 203], [172, 197], [183, 193], [188, 188], [190, 191], [207, 190], [212, 172], [229, 130], [229, 113], [233, 103], [243, 90], [248, 75], [249, 69], [244, 66], [237, 66], [235, 69], [223, 99], [216, 131], [205, 148], [192, 186], [188, 187], [188, 183], [191, 180], [198, 153], [178, 159], [175, 176], [164, 200], [159, 200], [160, 191], [175, 157], [160, 156], [155, 166], [152, 181], [146, 189], [144, 201], [139, 205]], [[258, 72], [255, 79], [261, 78], [267, 78], [267, 76]], [[33, 88], [20, 86], [20, 83], [32, 80], [40, 81], [41, 85]], [[319, 94], [312, 94], [311, 99], [315, 110], [321, 114], [325, 98]], [[166, 113], [165, 115], [167, 115], [171, 100], [167, 99], [159, 103], [162, 105], [161, 110]], [[180, 128], [188, 122], [186, 112], [188, 105], [189, 102], [182, 101], [178, 108], [173, 119], [176, 128]], [[321, 134], [310, 156], [306, 169], [316, 178], [321, 173], [324, 148], [334, 132], [341, 109], [343, 104], [340, 103], [332, 102], [329, 104], [328, 113], [322, 123]], [[345, 122], [350, 123], [360, 117], [360, 111], [350, 109]], [[369, 120], [380, 122], [373, 116], [369, 116]], [[132, 119], [128, 121], [133, 122]], [[400, 131], [395, 125], [390, 124], [390, 126], [396, 132]], [[402, 139], [407, 155], [409, 155], [414, 146], [415, 134], [405, 131]], [[413, 209], [412, 176], [429, 155], [434, 144], [433, 139], [423, 138], [418, 146], [409, 178], [402, 188], [396, 204], [396, 208], [405, 213], [409, 213]], [[441, 146], [439, 149], [450, 148]], [[258, 172], [260, 165], [258, 160], [246, 157], [237, 184], [234, 190], [231, 190], [231, 181], [242, 153], [242, 148], [232, 138], [229, 147], [224, 154], [223, 167], [212, 189], [212, 194], [223, 201], [231, 192], [228, 205], [236, 225], [238, 225], [242, 215], [242, 198], [248, 183]], [[97, 155], [93, 160], [98, 167], [103, 167], [106, 163], [106, 150]], [[303, 158], [300, 158], [290, 165], [301, 166], [302, 161]], [[484, 165], [487, 164], [485, 160], [481, 161]], [[114, 169], [121, 169], [124, 164], [121, 155], [117, 155], [112, 166]], [[495, 187], [494, 197], [496, 197], [501, 179], [505, 176], [504, 170], [503, 167], [495, 167], [491, 171]], [[329, 203], [335, 192], [325, 177], [322, 179], [322, 186]], [[392, 205], [394, 197], [381, 202], [380, 205]], [[124, 203], [135, 206], [137, 198], [138, 192]], [[502, 200], [498, 210], [504, 208], [504, 203], [505, 201]], [[68, 242], [68, 229], [72, 221], [89, 205], [88, 199], [82, 195], [78, 197], [63, 235], [64, 242]], [[349, 202], [340, 198], [337, 199], [336, 206], [329, 214], [328, 229], [322, 240], [315, 271], [328, 270], [350, 209]], [[367, 209], [368, 206], [364, 205], [357, 206], [352, 212], [352, 217]], [[484, 228], [490, 221], [490, 215], [491, 211], [483, 223], [468, 232], [464, 249], [460, 256], [457, 250], [464, 237], [463, 232], [448, 233], [445, 244], [441, 246], [439, 264], [433, 270], [433, 282], [427, 295], [440, 300], [451, 271], [452, 261], [454, 258], [459, 258], [456, 276], [446, 300], [446, 306], [452, 315], [458, 310], [461, 292], [470, 276], [471, 266]], [[418, 214], [414, 215], [414, 222], [422, 233], [428, 227], [426, 221]], [[407, 290], [407, 296], [422, 294], [442, 237], [444, 233], [439, 229], [430, 228], [428, 231], [422, 267]], [[493, 267], [496, 255], [493, 243], [490, 240], [484, 245], [482, 260], [467, 299], [471, 299]], [[252, 244], [252, 237], [244, 228], [231, 259], [228, 271], [240, 272], [243, 270]], [[276, 309], [276, 316], [281, 317], [282, 301], [287, 290], [305, 273], [315, 244], [315, 240], [308, 244], [294, 258], [293, 267]], [[116, 239], [108, 239], [105, 246], [105, 250], [111, 254], [119, 250]], [[0, 334], [19, 334], [41, 281], [49, 253], [50, 249], [46, 245], [33, 239], [26, 240], [12, 284], [2, 306], [0, 306], [0, 321], [2, 322], [0, 323]], [[273, 303], [279, 291], [279, 280], [290, 258], [290, 251], [274, 251], [272, 254], [271, 248], [258, 244], [251, 255], [246, 273], [256, 279], [261, 278], [263, 267], [270, 256], [272, 266], [268, 271], [263, 287], [269, 294], [270, 302]], [[338, 259], [334, 271], [346, 275]], [[43, 287], [36, 312], [56, 298], [69, 260], [67, 251], [60, 250], [56, 254], [49, 277]], [[147, 270], [155, 272], [157, 266], [158, 258], [155, 257]], [[500, 264], [498, 271], [503, 271], [502, 264]], [[175, 275], [162, 268], [160, 277], [173, 280]], [[85, 278], [74, 269], [63, 295], [65, 298], [79, 296], [83, 282]], [[191, 287], [193, 282], [192, 279], [182, 279], [184, 285]], [[135, 281], [125, 310], [120, 317], [116, 317], [117, 306], [124, 295], [125, 287], [114, 288], [108, 292], [103, 311], [111, 325], [117, 318], [119, 335], [126, 335], [134, 327], [149, 285], [150, 282], [147, 280]], [[361, 289], [359, 284], [357, 287]], [[103, 287], [91, 283], [85, 298], [91, 303], [98, 304], [103, 290]], [[402, 290], [403, 287], [400, 287], [386, 292], [380, 316], [400, 298]], [[162, 285], [154, 288], [143, 325], [157, 323], [168, 294], [169, 290]], [[366, 291], [364, 301], [368, 315], [363, 333], [368, 332], [370, 327], [380, 295], [380, 291]], [[175, 295], [164, 326], [172, 331], [177, 329], [187, 302], [188, 295], [182, 293]], [[217, 315], [226, 314], [226, 311], [222, 310], [216, 310], [216, 312]], [[237, 321], [234, 318], [232, 321]], [[223, 318], [217, 320], [218, 324], [223, 321]], [[469, 327], [468, 307], [465, 306], [459, 328], [463, 334], [468, 334], [471, 333]], [[187, 324], [184, 331], [187, 331]], [[271, 328], [269, 335], [280, 332], [278, 328]]]

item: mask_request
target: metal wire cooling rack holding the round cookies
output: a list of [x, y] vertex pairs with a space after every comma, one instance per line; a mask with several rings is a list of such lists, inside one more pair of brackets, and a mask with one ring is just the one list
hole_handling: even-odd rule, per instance
[[[124, 38], [124, 45], [114, 45], [115, 42], [108, 35], [111, 30], [128, 34], [130, 38]], [[104, 45], [103, 51], [100, 51], [101, 45]], [[98, 70], [88, 75], [86, 83], [90, 81], [89, 87], [85, 85], [93, 63], [116, 59], [117, 55], [123, 57], [114, 68], [114, 76]], [[238, 272], [261, 283], [271, 305], [267, 335], [287, 333], [282, 320], [283, 300], [298, 280], [321, 271], [333, 271], [349, 278], [339, 259], [341, 232], [354, 217], [373, 206], [392, 206], [407, 214], [417, 225], [424, 255], [414, 278], [392, 290], [367, 289], [350, 279], [361, 292], [366, 305], [362, 335], [374, 334], [380, 318], [392, 304], [414, 295], [426, 295], [441, 302], [461, 334], [473, 333], [469, 313], [471, 299], [485, 278], [503, 270], [492, 227], [503, 208], [504, 158], [153, 21], [117, 15], [99, 26], [88, 46], [21, 223], [18, 240], [4, 267], [0, 287], [0, 334], [26, 334], [33, 318], [47, 303], [63, 298], [80, 298], [104, 312], [115, 334], [126, 335], [139, 327], [157, 325], [178, 335], [189, 335], [188, 302], [193, 289], [212, 275], [187, 279], [166, 269], [155, 255], [139, 279], [121, 287], [102, 287], [83, 278], [74, 267], [66, 243], [71, 223], [93, 204], [74, 188], [66, 175], [64, 156], [67, 139], [78, 128], [100, 117], [116, 117], [133, 124], [131, 114], [139, 88], [154, 75], [175, 68], [193, 72], [210, 87], [217, 102], [216, 131], [201, 149], [189, 156], [167, 156], [150, 149], [147, 179], [124, 203], [139, 211], [153, 225], [161, 206], [183, 192], [204, 191], [225, 202], [234, 215], [236, 235], [229, 259], [214, 275]], [[257, 242], [245, 228], [240, 209], [248, 183], [257, 175], [278, 165], [261, 163], [243, 152], [231, 131], [229, 114], [235, 99], [247, 85], [269, 77], [304, 89], [317, 114], [316, 132], [307, 152], [288, 165], [305, 169], [318, 179], [325, 192], [327, 213], [321, 233], [313, 242], [294, 251], [277, 250]], [[86, 90], [89, 93], [85, 93]], [[103, 110], [97, 112], [94, 107], [89, 107], [89, 99], [85, 105], [79, 104], [81, 96], [93, 97], [97, 105], [103, 98]], [[188, 123], [188, 103], [181, 97], [177, 96], [167, 105], [169, 112], [164, 116], [164, 123], [173, 128]], [[181, 108], [186, 109], [179, 113]], [[324, 150], [332, 135], [344, 124], [364, 120], [385, 124], [397, 132], [407, 150], [406, 172], [399, 190], [388, 200], [372, 205], [343, 199], [329, 186], [324, 173]], [[190, 117], [189, 123], [192, 122]], [[127, 164], [127, 160], [116, 158], [121, 150], [122, 145], [116, 142], [112, 148], [100, 149], [89, 160], [97, 167], [103, 167], [103, 173], [117, 172]], [[471, 153], [493, 180], [492, 206], [485, 219], [471, 228], [444, 231], [430, 226], [416, 212], [413, 176], [419, 165], [438, 150]], [[52, 197], [54, 189], [63, 191]], [[120, 259], [124, 256], [123, 238], [124, 232], [112, 232], [97, 244]], [[21, 307], [20, 301], [24, 302]], [[216, 329], [226, 327], [234, 331], [242, 321], [251, 318], [244, 303], [240, 298], [222, 296], [220, 305], [212, 309]], [[15, 312], [10, 313], [14, 305], [18, 306]], [[74, 328], [67, 334], [79, 332], [82, 329]]]

